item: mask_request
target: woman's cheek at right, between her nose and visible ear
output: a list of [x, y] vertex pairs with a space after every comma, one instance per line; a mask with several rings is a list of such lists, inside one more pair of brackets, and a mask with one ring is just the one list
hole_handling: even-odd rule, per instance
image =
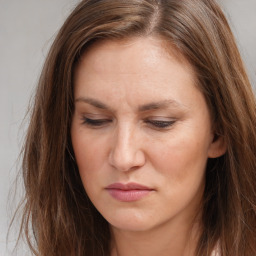
[[[168, 176], [172, 183], [194, 182], [202, 177], [207, 162], [206, 140], [176, 136], [151, 148], [154, 168]], [[194, 176], [194, 177], [193, 177]]]

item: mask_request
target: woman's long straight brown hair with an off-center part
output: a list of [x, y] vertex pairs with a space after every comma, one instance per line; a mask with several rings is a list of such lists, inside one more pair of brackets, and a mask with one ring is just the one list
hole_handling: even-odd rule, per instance
[[[214, 0], [84, 0], [46, 59], [24, 145], [21, 233], [35, 255], [110, 253], [108, 223], [89, 201], [73, 157], [73, 72], [98, 40], [154, 35], [194, 67], [227, 152], [209, 159], [197, 255], [256, 255], [255, 98], [229, 25]], [[32, 230], [32, 232], [31, 232]]]

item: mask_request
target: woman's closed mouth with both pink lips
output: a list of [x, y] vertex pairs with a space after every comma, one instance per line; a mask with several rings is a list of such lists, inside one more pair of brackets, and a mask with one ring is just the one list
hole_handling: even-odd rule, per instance
[[106, 190], [114, 199], [121, 202], [138, 201], [149, 195], [154, 189], [137, 183], [113, 183]]

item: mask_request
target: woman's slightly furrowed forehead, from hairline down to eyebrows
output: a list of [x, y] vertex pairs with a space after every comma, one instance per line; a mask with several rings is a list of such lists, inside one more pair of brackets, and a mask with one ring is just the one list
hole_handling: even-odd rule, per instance
[[89, 95], [117, 104], [122, 104], [119, 99], [130, 105], [191, 101], [190, 96], [199, 93], [189, 62], [170, 43], [155, 37], [92, 45], [76, 67], [74, 82], [75, 97]]

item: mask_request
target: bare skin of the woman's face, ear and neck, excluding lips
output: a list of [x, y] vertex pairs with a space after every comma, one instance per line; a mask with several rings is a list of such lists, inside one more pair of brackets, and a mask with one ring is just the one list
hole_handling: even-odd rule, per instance
[[[82, 56], [74, 85], [72, 144], [112, 255], [194, 255], [206, 162], [225, 145], [191, 65], [155, 37], [104, 41]], [[123, 202], [106, 190], [116, 182], [152, 191]]]

